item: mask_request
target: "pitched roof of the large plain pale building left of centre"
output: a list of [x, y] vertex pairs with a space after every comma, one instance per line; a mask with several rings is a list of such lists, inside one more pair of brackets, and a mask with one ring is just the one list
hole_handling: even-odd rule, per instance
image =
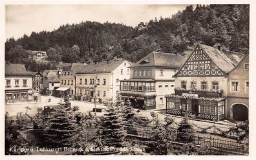
[[98, 62], [97, 64], [87, 64], [84, 67], [80, 68], [78, 74], [89, 74], [89, 73], [111, 73], [120, 66], [125, 60], [113, 60], [109, 63], [107, 62]]

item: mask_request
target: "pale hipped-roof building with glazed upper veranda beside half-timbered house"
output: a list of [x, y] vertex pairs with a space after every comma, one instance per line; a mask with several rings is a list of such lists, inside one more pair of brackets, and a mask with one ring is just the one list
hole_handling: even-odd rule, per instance
[[153, 51], [131, 69], [131, 79], [122, 80], [120, 93], [138, 109], [165, 109], [165, 94], [174, 93], [176, 71], [185, 58]]

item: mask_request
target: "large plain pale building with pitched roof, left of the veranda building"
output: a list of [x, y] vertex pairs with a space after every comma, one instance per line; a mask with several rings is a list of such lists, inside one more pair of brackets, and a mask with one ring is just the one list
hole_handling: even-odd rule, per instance
[[[120, 91], [120, 80], [130, 78], [127, 60], [112, 60], [87, 64], [76, 73], [76, 94], [101, 98], [101, 100], [115, 100]], [[95, 92], [94, 92], [94, 87]]]

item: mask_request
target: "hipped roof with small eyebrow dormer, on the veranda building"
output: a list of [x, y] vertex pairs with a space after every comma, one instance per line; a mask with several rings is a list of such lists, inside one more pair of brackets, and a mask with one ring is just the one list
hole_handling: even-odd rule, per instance
[[185, 58], [173, 53], [163, 53], [153, 51], [131, 67], [171, 67], [180, 68]]

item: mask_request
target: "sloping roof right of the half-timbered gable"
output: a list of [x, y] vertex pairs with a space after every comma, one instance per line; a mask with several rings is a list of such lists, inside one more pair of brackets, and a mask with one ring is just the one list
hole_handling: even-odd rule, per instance
[[213, 48], [211, 46], [206, 46], [204, 44], [199, 44], [200, 48], [202, 48], [206, 54], [213, 60], [213, 62], [225, 73], [229, 73], [233, 67], [235, 67], [235, 63], [233, 63], [227, 55], [225, 55], [219, 49]]

